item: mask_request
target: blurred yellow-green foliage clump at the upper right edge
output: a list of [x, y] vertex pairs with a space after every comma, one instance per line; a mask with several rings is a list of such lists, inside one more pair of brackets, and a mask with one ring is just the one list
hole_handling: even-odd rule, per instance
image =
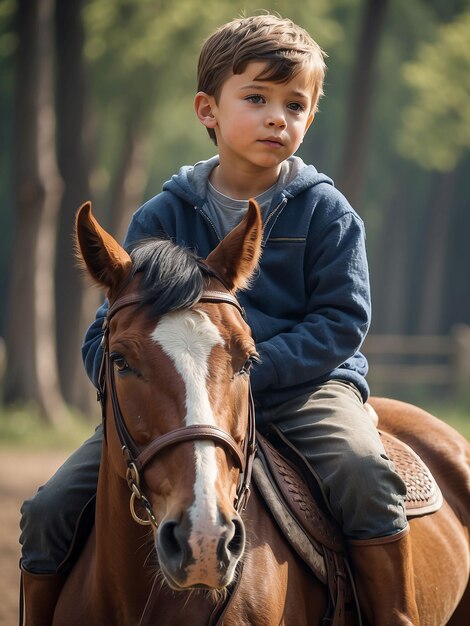
[[437, 29], [402, 74], [412, 92], [398, 149], [423, 168], [450, 171], [470, 148], [470, 10]]

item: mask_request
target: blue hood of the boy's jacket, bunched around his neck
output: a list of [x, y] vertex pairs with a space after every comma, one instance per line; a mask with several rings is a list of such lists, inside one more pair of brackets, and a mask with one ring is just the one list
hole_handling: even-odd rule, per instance
[[[284, 184], [279, 185], [279, 189], [276, 189], [274, 193], [273, 202], [278, 202], [280, 197], [294, 198], [320, 183], [333, 185], [331, 178], [319, 173], [313, 165], [306, 165], [300, 157], [291, 156], [284, 163], [290, 170], [290, 182], [285, 187]], [[218, 164], [217, 155], [207, 161], [199, 161], [195, 165], [184, 165], [178, 174], [174, 174], [164, 183], [163, 190], [171, 191], [193, 206], [202, 207], [206, 201], [209, 175]]]

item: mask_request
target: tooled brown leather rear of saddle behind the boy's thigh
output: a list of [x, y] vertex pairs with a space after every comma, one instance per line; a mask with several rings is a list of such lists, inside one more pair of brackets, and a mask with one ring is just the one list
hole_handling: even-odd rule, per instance
[[406, 516], [434, 513], [442, 506], [442, 493], [431, 470], [410, 446], [379, 430], [385, 452], [406, 484]]

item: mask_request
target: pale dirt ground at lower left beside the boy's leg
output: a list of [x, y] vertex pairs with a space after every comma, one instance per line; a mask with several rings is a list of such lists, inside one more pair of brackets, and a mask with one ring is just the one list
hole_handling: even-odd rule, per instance
[[18, 624], [21, 503], [61, 465], [66, 452], [0, 450], [0, 626]]

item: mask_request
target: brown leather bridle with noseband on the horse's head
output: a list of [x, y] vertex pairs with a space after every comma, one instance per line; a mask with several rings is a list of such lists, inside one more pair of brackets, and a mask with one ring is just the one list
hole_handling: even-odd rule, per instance
[[[162, 450], [178, 445], [184, 441], [199, 441], [204, 439], [214, 441], [216, 445], [222, 446], [225, 450], [227, 450], [240, 470], [234, 508], [236, 511], [242, 511], [246, 507], [250, 495], [251, 471], [256, 452], [255, 410], [251, 394], [251, 386], [249, 387], [247, 432], [241, 445], [239, 445], [229, 433], [222, 430], [218, 426], [214, 426], [212, 424], [195, 424], [192, 426], [175, 428], [174, 430], [157, 437], [145, 448], [140, 449], [127, 429], [116, 393], [114, 368], [109, 351], [109, 325], [111, 319], [118, 311], [128, 306], [141, 304], [144, 299], [145, 293], [130, 293], [119, 297], [108, 309], [103, 322], [103, 338], [101, 340], [103, 356], [101, 359], [97, 384], [97, 396], [101, 404], [105, 437], [106, 399], [109, 387], [109, 395], [111, 398], [116, 431], [121, 443], [124, 460], [127, 464], [126, 480], [129, 485], [129, 489], [131, 490], [130, 510], [132, 517], [139, 524], [151, 524], [155, 528], [158, 527], [158, 522], [152, 510], [151, 503], [141, 487], [141, 474], [143, 470]], [[240, 306], [240, 303], [235, 296], [228, 291], [225, 292], [206, 289], [202, 292], [202, 296], [198, 300], [198, 303], [199, 302], [230, 304], [239, 311], [242, 317], [245, 317], [245, 312]], [[142, 504], [148, 519], [142, 519], [137, 515], [135, 511], [136, 500]]]

